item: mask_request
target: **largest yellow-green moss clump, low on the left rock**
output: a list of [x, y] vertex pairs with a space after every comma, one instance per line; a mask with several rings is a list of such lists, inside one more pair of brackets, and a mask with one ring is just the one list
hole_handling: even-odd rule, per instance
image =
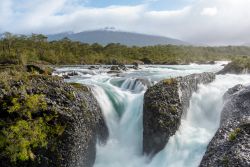
[[2, 133], [5, 136], [5, 153], [11, 161], [34, 160], [33, 149], [47, 146], [46, 124], [40, 118], [35, 121], [17, 121]]

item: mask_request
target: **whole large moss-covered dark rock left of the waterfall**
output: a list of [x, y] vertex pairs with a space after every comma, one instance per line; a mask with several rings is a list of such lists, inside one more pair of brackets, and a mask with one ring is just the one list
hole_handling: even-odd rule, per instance
[[1, 167], [91, 167], [108, 137], [91, 91], [48, 75], [0, 73], [0, 120]]

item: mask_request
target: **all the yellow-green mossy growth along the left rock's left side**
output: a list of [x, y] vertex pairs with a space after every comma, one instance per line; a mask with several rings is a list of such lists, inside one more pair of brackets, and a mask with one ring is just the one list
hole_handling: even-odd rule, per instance
[[37, 158], [35, 152], [47, 149], [50, 138], [65, 128], [57, 122], [57, 111], [48, 108], [45, 95], [28, 93], [32, 76], [0, 73], [0, 158], [13, 163]]

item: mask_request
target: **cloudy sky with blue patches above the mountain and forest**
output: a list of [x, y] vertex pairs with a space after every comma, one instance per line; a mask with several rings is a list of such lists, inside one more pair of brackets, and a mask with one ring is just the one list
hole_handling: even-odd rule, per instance
[[250, 43], [250, 0], [0, 0], [0, 32], [115, 27], [225, 45]]

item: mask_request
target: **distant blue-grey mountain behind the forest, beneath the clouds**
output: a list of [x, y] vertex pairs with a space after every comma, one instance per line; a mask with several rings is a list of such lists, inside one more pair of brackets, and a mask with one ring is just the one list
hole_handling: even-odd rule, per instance
[[80, 33], [60, 33], [54, 35], [48, 35], [48, 39], [60, 40], [67, 37], [73, 41], [80, 41], [84, 43], [99, 43], [107, 45], [109, 43], [120, 43], [127, 46], [151, 46], [151, 45], [188, 45], [188, 43], [181, 40], [145, 35], [131, 32], [110, 31], [110, 30], [95, 30], [84, 31]]

